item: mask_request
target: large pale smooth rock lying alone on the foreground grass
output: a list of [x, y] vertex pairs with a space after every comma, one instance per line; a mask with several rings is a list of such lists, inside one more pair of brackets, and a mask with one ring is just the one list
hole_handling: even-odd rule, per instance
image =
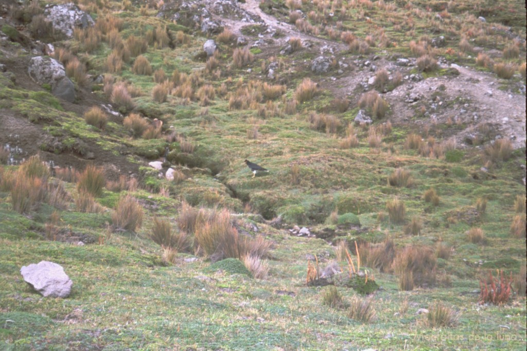
[[23, 266], [20, 273], [27, 284], [44, 297], [68, 297], [73, 282], [61, 265], [49, 261]]

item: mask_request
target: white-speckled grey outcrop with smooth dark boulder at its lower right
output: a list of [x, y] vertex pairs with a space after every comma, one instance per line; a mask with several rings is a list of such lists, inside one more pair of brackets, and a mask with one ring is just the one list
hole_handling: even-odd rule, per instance
[[27, 73], [38, 84], [51, 85], [53, 95], [75, 101], [75, 85], [66, 77], [64, 66], [51, 57], [36, 56], [30, 60]]

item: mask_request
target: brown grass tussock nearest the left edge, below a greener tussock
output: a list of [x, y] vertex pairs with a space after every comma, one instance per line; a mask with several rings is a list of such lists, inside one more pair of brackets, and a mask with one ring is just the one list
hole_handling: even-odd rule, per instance
[[47, 195], [47, 180], [17, 172], [11, 186], [11, 204], [18, 213], [28, 213], [38, 207]]

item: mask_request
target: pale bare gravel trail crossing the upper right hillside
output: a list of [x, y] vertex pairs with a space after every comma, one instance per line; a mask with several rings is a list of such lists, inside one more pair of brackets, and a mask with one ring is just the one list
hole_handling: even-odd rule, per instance
[[[278, 21], [276, 17], [266, 14], [258, 5], [259, 2], [257, 0], [247, 0], [245, 3], [238, 3], [238, 6], [249, 14], [260, 17], [262, 22], [270, 28], [270, 31], [263, 35], [264, 38], [272, 37], [272, 33], [279, 30], [286, 36], [299, 37], [302, 42], [309, 41], [313, 43], [318, 46], [321, 53], [324, 48], [328, 47], [331, 47], [329, 51], [335, 55], [347, 51], [347, 45], [300, 32], [294, 25]], [[223, 20], [227, 22], [231, 31], [236, 34], [241, 34], [241, 28], [248, 25], [247, 22], [227, 18]], [[269, 49], [271, 46], [269, 45]], [[392, 72], [394, 69], [401, 69], [401, 67], [395, 66], [393, 62], [387, 61], [384, 57], [381, 57], [376, 62], [376, 65], [379, 69], [385, 67]], [[500, 79], [495, 74], [477, 71], [476, 69], [456, 64], [451, 64], [450, 67], [456, 68], [460, 74], [456, 77], [443, 76], [423, 79], [421, 82], [406, 83], [394, 89], [393, 92], [383, 94], [383, 97], [391, 105], [392, 111], [395, 112], [391, 117], [392, 122], [395, 124], [407, 124], [414, 117], [414, 108], [412, 108], [411, 104], [405, 102], [407, 95], [418, 94], [422, 96], [422, 100], [426, 100], [432, 96], [439, 86], [443, 85], [445, 90], [442, 98], [445, 101], [452, 101], [456, 97], [462, 97], [465, 101], [468, 101], [469, 106], [462, 106], [464, 108], [457, 106], [457, 109], [430, 108], [431, 117], [416, 121], [417, 125], [421, 124], [423, 128], [426, 128], [431, 123], [446, 123], [448, 119], [452, 119], [456, 123], [464, 123], [470, 127], [456, 131], [454, 135], [450, 136], [456, 140], [458, 145], [462, 145], [464, 138], [468, 134], [473, 133], [473, 128], [476, 125], [491, 124], [498, 135], [511, 138], [514, 148], [524, 147], [526, 138], [525, 95], [510, 93], [500, 89], [502, 83], [500, 83]], [[343, 69], [344, 72], [336, 77], [321, 77], [319, 86], [331, 91], [335, 97], [352, 95], [357, 85], [367, 81], [375, 74], [370, 72], [367, 67], [363, 70], [357, 68]], [[430, 105], [432, 105], [431, 101]]]

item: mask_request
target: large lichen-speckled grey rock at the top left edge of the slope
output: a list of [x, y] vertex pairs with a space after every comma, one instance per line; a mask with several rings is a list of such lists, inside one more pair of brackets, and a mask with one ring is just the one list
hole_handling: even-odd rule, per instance
[[95, 25], [93, 18], [75, 4], [46, 5], [44, 16], [46, 21], [51, 22], [55, 31], [63, 33], [68, 38], [73, 37], [74, 28]]

